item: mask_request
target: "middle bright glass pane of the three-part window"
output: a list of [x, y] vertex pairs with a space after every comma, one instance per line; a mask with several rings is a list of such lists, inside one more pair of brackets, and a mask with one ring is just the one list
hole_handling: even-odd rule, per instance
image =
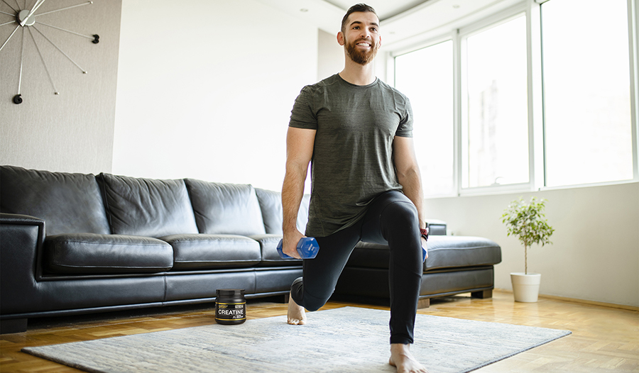
[[469, 35], [464, 51], [461, 187], [527, 183], [525, 15]]

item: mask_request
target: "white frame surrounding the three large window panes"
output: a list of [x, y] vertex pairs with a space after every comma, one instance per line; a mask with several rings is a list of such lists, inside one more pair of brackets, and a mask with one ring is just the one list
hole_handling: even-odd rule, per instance
[[[639, 130], [638, 130], [638, 108], [639, 108], [639, 0], [627, 0], [628, 4], [628, 48], [629, 48], [629, 69], [630, 69], [630, 120], [633, 147], [633, 179], [618, 180], [611, 182], [595, 182], [589, 184], [571, 184], [562, 186], [546, 187], [545, 185], [545, 148], [544, 148], [544, 102], [543, 102], [543, 66], [542, 66], [542, 30], [541, 30], [541, 4], [552, 0], [523, 0], [508, 9], [496, 11], [479, 21], [468, 23], [460, 28], [449, 32], [441, 33], [434, 38], [429, 38], [421, 42], [414, 43], [407, 48], [391, 50], [387, 58], [388, 80], [390, 84], [395, 83], [395, 57], [406, 53], [427, 48], [429, 46], [442, 43], [446, 40], [453, 42], [453, 82], [454, 82], [454, 180], [451, 194], [429, 195], [426, 198], [438, 198], [445, 196], [473, 196], [484, 194], [506, 194], [513, 192], [530, 192], [555, 189], [573, 189], [579, 187], [599, 187], [605, 185], [628, 184], [639, 182]], [[526, 18], [526, 50], [527, 50], [527, 82], [528, 82], [528, 172], [529, 180], [526, 183], [506, 184], [489, 187], [468, 187], [461, 184], [462, 177], [462, 157], [464, 155], [464, 144], [462, 144], [462, 130], [467, 124], [464, 116], [467, 113], [466, 97], [466, 77], [465, 69], [465, 43], [466, 39], [482, 30], [506, 23], [513, 18], [525, 13]], [[425, 175], [425, 177], [427, 177]]]

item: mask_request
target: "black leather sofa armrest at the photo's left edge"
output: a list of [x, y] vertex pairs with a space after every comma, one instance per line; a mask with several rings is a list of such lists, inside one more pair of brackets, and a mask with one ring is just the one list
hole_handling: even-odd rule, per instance
[[45, 221], [0, 213], [0, 314], [14, 313], [35, 291]]

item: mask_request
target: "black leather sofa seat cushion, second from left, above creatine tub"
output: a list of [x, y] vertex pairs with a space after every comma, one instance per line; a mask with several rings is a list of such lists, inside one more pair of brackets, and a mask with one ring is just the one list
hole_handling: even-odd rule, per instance
[[169, 235], [173, 269], [249, 267], [261, 260], [260, 244], [242, 235]]

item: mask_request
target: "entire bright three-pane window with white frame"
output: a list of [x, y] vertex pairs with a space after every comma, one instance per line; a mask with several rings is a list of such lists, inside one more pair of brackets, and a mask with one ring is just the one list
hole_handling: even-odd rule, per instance
[[638, 1], [520, 1], [395, 57], [426, 196], [638, 181]]

